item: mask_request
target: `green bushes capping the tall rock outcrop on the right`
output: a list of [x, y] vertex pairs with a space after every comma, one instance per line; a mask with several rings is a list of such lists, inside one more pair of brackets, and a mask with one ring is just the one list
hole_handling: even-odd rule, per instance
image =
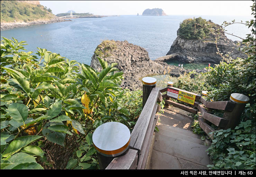
[[198, 23], [202, 26], [214, 27], [214, 23], [206, 21], [205, 19], [193, 18], [185, 19], [180, 23], [180, 28], [177, 31], [177, 36], [180, 36], [182, 39], [204, 39], [208, 37], [209, 29], [206, 28], [195, 28], [195, 23]]

